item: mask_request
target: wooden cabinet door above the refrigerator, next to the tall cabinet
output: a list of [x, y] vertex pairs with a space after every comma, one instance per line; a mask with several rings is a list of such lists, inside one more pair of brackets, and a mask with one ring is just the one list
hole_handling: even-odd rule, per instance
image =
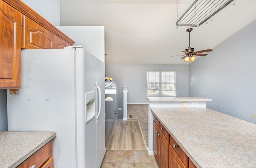
[[54, 34], [46, 30], [30, 18], [24, 16], [22, 48], [46, 49], [54, 48]]

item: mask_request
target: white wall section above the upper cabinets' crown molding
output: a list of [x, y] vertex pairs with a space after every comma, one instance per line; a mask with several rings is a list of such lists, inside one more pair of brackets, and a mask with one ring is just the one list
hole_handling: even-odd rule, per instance
[[60, 0], [22, 0], [54, 26], [60, 26]]

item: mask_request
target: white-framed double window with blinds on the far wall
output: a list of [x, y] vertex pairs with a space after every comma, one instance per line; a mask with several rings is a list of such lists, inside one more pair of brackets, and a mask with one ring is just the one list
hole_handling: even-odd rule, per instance
[[147, 71], [147, 96], [176, 96], [175, 71]]

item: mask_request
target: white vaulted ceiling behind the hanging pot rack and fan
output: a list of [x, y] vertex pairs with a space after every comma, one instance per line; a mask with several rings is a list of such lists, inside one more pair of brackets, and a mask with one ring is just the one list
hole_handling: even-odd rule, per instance
[[[178, 18], [193, 2], [178, 0]], [[212, 22], [193, 27], [190, 46], [195, 51], [213, 49], [256, 19], [256, 0], [234, 3]], [[106, 63], [188, 64], [182, 56], [169, 57], [188, 48], [189, 27], [176, 28], [176, 21], [176, 0], [60, 0], [61, 26], [105, 26]]]

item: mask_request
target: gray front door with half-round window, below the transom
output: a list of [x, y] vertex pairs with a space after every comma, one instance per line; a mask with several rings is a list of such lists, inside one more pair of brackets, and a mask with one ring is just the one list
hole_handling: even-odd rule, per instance
[[116, 95], [105, 95], [105, 115], [106, 119], [116, 119]]

